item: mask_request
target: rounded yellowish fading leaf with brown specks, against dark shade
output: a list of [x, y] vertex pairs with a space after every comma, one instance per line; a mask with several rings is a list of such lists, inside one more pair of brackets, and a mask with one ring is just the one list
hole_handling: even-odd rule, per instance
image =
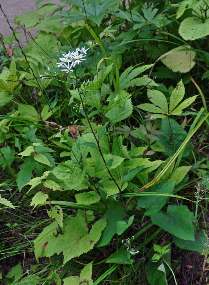
[[191, 49], [191, 46], [185, 45], [173, 48], [172, 50], [167, 52], [167, 56], [161, 58], [161, 61], [173, 72], [186, 73], [194, 67], [195, 62], [193, 61], [193, 59], [196, 56], [195, 52], [193, 52], [192, 50], [182, 50], [187, 48]]

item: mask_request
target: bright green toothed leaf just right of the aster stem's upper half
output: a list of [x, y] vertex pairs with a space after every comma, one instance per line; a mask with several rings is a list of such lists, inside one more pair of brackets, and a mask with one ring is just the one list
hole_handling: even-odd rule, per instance
[[133, 105], [131, 99], [129, 98], [125, 103], [120, 106], [113, 107], [106, 113], [106, 117], [110, 119], [111, 124], [117, 123], [121, 120], [126, 119], [131, 115], [133, 111]]

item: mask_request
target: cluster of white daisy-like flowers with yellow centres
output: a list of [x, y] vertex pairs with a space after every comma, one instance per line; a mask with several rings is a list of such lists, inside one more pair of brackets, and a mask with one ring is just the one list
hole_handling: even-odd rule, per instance
[[56, 63], [57, 67], [63, 67], [64, 69], [61, 69], [62, 71], [66, 71], [68, 73], [69, 71], [73, 71], [71, 68], [75, 67], [77, 64], [82, 62], [82, 60], [86, 60], [84, 57], [86, 56], [86, 51], [89, 49], [87, 48], [85, 50], [86, 46], [84, 48], [76, 48], [75, 52], [68, 52], [68, 54], [62, 54], [63, 57], [59, 57], [60, 62]]

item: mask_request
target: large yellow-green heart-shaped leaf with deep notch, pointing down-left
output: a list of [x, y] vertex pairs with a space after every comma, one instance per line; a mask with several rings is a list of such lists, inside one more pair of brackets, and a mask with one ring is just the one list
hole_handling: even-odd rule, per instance
[[86, 213], [78, 210], [78, 214], [70, 220], [63, 235], [63, 264], [93, 249], [105, 229], [106, 223], [105, 220], [96, 221], [88, 232]]

